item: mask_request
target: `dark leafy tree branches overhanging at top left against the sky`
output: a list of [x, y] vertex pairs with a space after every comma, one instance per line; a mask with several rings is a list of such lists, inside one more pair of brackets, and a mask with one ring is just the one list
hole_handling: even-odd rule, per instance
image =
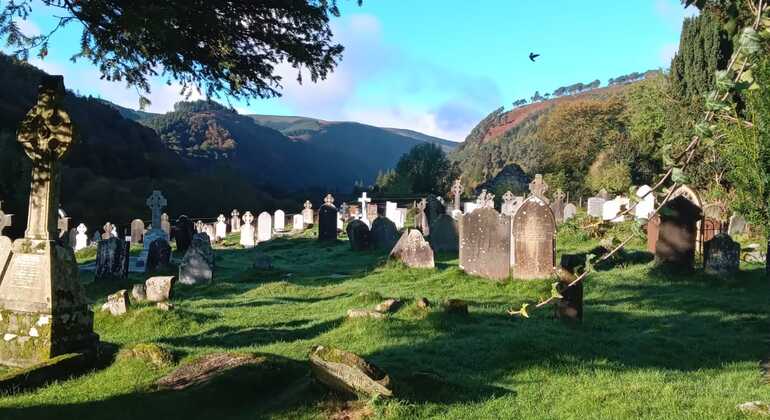
[[[149, 78], [176, 80], [183, 92], [239, 98], [280, 96], [276, 67], [288, 63], [307, 71], [315, 82], [339, 62], [343, 47], [332, 40], [330, 16], [339, 16], [336, 0], [39, 0], [58, 8], [50, 32], [24, 34], [33, 0], [8, 0], [0, 8], [0, 36], [15, 55], [40, 58], [62, 27], [82, 25], [75, 59], [99, 68], [102, 78], [124, 81], [149, 93]], [[358, 0], [360, 4], [361, 0]], [[140, 105], [149, 101], [142, 96]]]

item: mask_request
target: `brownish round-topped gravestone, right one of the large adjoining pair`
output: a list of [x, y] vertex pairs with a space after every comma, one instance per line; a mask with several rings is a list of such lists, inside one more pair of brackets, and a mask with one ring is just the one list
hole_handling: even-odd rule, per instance
[[536, 195], [524, 201], [513, 216], [513, 277], [550, 277], [556, 264], [556, 219]]

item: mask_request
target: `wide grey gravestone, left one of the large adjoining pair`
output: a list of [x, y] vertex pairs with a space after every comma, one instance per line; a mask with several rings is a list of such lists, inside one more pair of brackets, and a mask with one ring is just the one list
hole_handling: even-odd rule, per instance
[[460, 268], [488, 279], [508, 279], [511, 218], [484, 207], [463, 215], [460, 220]]

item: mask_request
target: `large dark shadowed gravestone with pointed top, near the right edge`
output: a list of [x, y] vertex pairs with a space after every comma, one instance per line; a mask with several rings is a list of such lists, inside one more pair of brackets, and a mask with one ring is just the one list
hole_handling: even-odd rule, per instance
[[660, 210], [660, 231], [655, 261], [681, 271], [691, 271], [695, 262], [701, 208], [683, 195], [669, 200]]

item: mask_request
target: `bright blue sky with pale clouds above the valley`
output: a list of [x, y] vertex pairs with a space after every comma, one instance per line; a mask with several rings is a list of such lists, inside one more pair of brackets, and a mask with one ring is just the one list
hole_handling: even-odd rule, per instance
[[[240, 113], [357, 121], [462, 141], [491, 111], [535, 91], [668, 68], [683, 19], [697, 13], [680, 0], [339, 2], [342, 16], [332, 28], [345, 53], [327, 80], [300, 85], [296, 70], [281, 66], [282, 97], [230, 104]], [[27, 34], [47, 32], [52, 13], [36, 4], [19, 25]], [[75, 25], [58, 32], [49, 56], [31, 63], [64, 75], [81, 95], [137, 108], [136, 90], [99, 80], [95, 67], [69, 60], [79, 35]], [[530, 52], [541, 54], [537, 62]], [[147, 110], [173, 109], [183, 99], [179, 91], [178, 84], [154, 79]]]

